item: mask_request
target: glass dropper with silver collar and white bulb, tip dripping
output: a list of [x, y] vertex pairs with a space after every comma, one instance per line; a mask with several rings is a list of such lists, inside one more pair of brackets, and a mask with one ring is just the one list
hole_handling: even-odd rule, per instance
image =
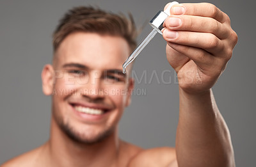
[[155, 17], [150, 20], [149, 24], [150, 26], [152, 26], [152, 30], [150, 31], [150, 33], [146, 36], [146, 38], [138, 45], [138, 47], [136, 47], [136, 49], [132, 52], [132, 54], [127, 58], [127, 60], [125, 60], [124, 64], [123, 64], [123, 73], [126, 73], [126, 67], [132, 62], [134, 61], [134, 59], [140, 54], [140, 52], [144, 49], [145, 46], [147, 46], [147, 44], [150, 42], [150, 40], [152, 40], [154, 38], [154, 36], [158, 33], [160, 33], [161, 35], [162, 33], [162, 29], [163, 29], [163, 24], [164, 24], [164, 20], [170, 15], [170, 9], [174, 4], [179, 4], [176, 1], [173, 1], [172, 3], [169, 4], [168, 8], [166, 8], [166, 10], [163, 11], [159, 11]]

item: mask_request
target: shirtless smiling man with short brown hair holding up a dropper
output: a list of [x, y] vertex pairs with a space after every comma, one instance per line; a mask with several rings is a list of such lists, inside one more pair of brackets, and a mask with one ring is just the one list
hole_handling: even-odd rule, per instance
[[170, 13], [163, 38], [179, 79], [175, 148], [143, 150], [118, 138], [134, 87], [131, 67], [122, 74], [122, 63], [136, 46], [136, 30], [124, 16], [79, 7], [61, 19], [52, 65], [42, 70], [43, 91], [52, 95], [50, 139], [3, 166], [235, 166], [211, 88], [237, 35], [212, 4], [177, 4]]

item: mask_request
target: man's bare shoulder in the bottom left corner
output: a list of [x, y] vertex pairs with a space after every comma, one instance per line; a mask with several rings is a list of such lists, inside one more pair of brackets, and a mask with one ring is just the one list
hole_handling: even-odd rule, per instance
[[38, 160], [38, 156], [40, 155], [41, 151], [42, 147], [35, 148], [34, 150], [21, 154], [17, 157], [14, 157], [13, 159], [10, 159], [6, 163], [1, 164], [1, 167], [35, 166], [35, 163]]

